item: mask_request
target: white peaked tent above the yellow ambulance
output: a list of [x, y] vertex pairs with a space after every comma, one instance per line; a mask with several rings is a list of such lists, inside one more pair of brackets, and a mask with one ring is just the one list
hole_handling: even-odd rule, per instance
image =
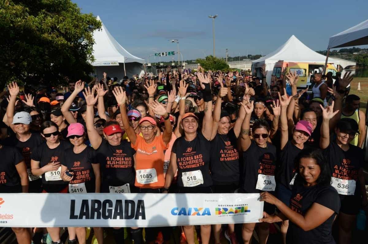
[[[273, 66], [277, 61], [289, 61], [289, 62], [305, 62], [305, 63], [315, 63], [324, 64], [326, 56], [314, 52], [309, 47], [305, 46], [298, 38], [292, 35], [289, 40], [287, 40], [283, 45], [277, 48], [272, 53], [267, 54], [260, 59], [252, 61], [253, 68], [260, 68], [263, 64], [266, 64], [267, 81], [271, 81], [271, 75]], [[335, 59], [330, 59], [331, 63], [338, 64], [339, 61]], [[260, 76], [261, 74], [258, 74]]]

